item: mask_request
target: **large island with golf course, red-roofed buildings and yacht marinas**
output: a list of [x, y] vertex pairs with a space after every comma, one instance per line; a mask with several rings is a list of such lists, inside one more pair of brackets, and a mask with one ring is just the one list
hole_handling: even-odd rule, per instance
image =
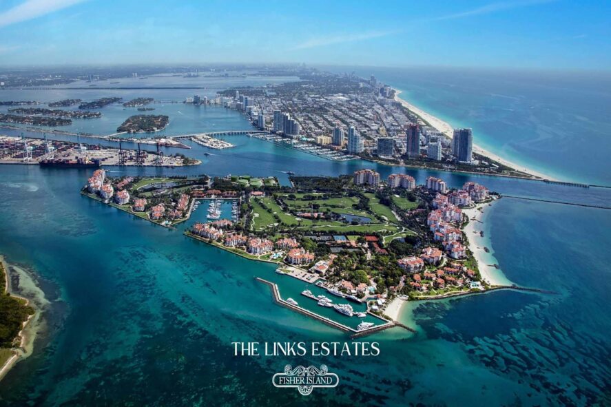
[[[277, 264], [280, 274], [366, 304], [366, 314], [381, 324], [353, 329], [323, 321], [353, 333], [399, 324], [391, 311], [397, 300], [512, 288], [482, 275], [475, 255], [480, 249], [463, 231], [468, 210], [499, 198], [475, 182], [449, 189], [439, 178], [416, 185], [406, 174], [380, 180], [377, 172], [362, 169], [339, 177], [291, 176], [291, 186], [282, 187], [276, 178], [112, 178], [98, 170], [81, 193], [169, 228], [205, 205], [207, 221], [187, 225], [186, 236]], [[261, 281], [271, 284], [280, 304], [311, 314]], [[302, 294], [312, 298], [308, 290]], [[312, 299], [334, 306], [320, 296]], [[347, 304], [340, 308], [344, 315], [357, 314]]]

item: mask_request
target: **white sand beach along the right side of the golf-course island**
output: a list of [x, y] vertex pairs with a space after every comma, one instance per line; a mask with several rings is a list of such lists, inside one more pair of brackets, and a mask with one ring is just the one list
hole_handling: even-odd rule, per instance
[[[512, 282], [505, 277], [503, 271], [491, 265], [495, 264], [497, 260], [491, 251], [489, 237], [482, 237], [479, 233], [484, 230], [483, 222], [486, 221], [484, 212], [490, 210], [489, 205], [486, 203], [477, 205], [475, 208], [463, 209], [463, 213], [469, 218], [469, 222], [464, 227], [463, 232], [469, 242], [469, 249], [473, 252], [475, 260], [477, 260], [477, 267], [479, 267], [481, 278], [490, 285], [511, 285]], [[494, 205], [494, 202], [491, 205]], [[484, 247], [487, 247], [490, 253], [486, 253]]]

